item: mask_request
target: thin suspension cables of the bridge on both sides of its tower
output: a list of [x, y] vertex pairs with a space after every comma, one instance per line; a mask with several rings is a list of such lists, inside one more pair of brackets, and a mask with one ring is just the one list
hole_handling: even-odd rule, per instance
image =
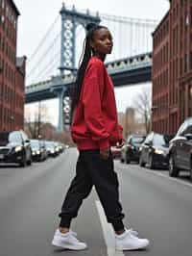
[[[87, 11], [86, 13], [93, 14]], [[101, 24], [108, 27], [114, 39], [114, 49], [108, 57], [109, 62], [152, 51], [151, 34], [156, 28], [156, 20], [129, 18], [105, 13], [99, 14], [99, 17]], [[27, 62], [27, 85], [47, 80], [51, 76], [59, 74], [60, 39], [59, 14]], [[78, 65], [78, 59], [83, 49], [83, 27], [78, 27], [75, 40], [77, 45], [76, 65]]]

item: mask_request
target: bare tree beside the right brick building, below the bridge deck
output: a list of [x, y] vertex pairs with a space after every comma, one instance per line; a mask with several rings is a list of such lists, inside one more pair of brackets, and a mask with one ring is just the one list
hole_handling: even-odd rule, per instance
[[134, 108], [144, 122], [146, 134], [151, 131], [151, 108], [152, 108], [152, 91], [150, 88], [145, 88], [138, 92], [134, 99]]

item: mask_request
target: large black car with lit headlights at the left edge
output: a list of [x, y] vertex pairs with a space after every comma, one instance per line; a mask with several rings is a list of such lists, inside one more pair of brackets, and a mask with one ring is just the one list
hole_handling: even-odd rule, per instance
[[0, 132], [0, 163], [32, 164], [32, 148], [23, 131]]

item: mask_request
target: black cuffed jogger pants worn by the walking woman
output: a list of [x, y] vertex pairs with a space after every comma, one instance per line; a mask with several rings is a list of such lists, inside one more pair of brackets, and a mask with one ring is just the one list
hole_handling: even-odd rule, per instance
[[122, 207], [119, 202], [118, 179], [114, 171], [111, 152], [108, 160], [103, 160], [99, 149], [80, 150], [76, 165], [76, 176], [72, 180], [59, 217], [60, 227], [69, 227], [72, 218], [76, 218], [85, 197], [92, 186], [98, 193], [108, 222], [115, 231], [124, 228]]

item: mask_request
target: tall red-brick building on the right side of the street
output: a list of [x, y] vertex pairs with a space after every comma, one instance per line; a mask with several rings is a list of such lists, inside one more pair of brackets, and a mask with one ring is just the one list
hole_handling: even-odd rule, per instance
[[192, 116], [192, 1], [170, 1], [153, 38], [153, 130], [174, 134]]

